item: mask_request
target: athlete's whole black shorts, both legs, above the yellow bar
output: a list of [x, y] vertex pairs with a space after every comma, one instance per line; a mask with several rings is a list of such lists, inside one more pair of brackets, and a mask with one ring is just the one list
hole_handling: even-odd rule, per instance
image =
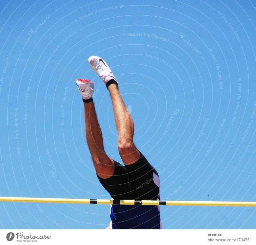
[[141, 154], [131, 165], [114, 161], [114, 174], [107, 179], [98, 176], [101, 185], [114, 200], [156, 200], [159, 197], [159, 176], [148, 160]]

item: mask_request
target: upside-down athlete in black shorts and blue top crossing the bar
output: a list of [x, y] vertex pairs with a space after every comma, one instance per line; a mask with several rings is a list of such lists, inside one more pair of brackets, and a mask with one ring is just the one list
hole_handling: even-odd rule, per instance
[[[91, 56], [88, 62], [110, 93], [118, 132], [118, 152], [124, 163], [123, 166], [109, 158], [104, 150], [92, 100], [94, 83], [77, 79], [76, 85], [84, 102], [86, 140], [101, 185], [114, 200], [160, 200], [159, 176], [133, 143], [132, 117], [124, 105], [115, 76], [100, 57]], [[113, 204], [110, 218], [106, 229], [161, 229], [159, 206]]]

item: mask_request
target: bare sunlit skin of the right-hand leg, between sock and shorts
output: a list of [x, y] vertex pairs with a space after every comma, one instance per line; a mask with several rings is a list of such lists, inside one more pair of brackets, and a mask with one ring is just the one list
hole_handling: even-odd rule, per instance
[[137, 162], [140, 152], [133, 143], [134, 125], [121, 94], [115, 84], [108, 86], [118, 132], [118, 151], [125, 165]]

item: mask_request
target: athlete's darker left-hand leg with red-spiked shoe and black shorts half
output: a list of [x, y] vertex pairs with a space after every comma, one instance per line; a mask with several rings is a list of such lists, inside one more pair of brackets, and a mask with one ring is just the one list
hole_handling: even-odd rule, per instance
[[126, 168], [110, 159], [104, 150], [102, 133], [92, 101], [94, 84], [90, 80], [77, 79], [76, 85], [84, 101], [85, 135], [97, 177], [111, 197], [129, 199], [127, 193], [132, 190]]

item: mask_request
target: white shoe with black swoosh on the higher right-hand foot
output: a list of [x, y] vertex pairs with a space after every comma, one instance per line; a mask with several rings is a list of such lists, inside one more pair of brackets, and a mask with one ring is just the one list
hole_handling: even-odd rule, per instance
[[117, 80], [110, 70], [108, 64], [98, 56], [91, 56], [88, 59], [88, 63], [92, 70], [100, 77], [103, 83], [107, 83], [109, 80], [114, 79], [117, 84]]

